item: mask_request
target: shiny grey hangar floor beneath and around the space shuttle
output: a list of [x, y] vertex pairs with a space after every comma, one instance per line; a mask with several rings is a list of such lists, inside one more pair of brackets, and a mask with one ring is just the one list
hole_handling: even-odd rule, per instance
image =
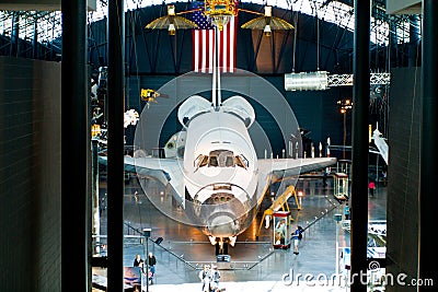
[[[141, 185], [148, 196], [145, 195]], [[238, 236], [235, 246], [230, 248], [231, 262], [216, 262], [215, 248], [203, 233], [196, 227], [170, 219], [155, 208], [161, 205], [160, 209], [173, 209], [173, 217], [181, 213], [181, 210], [172, 205], [171, 196], [163, 195], [166, 194], [164, 186], [145, 178], [140, 184], [137, 177], [132, 177], [126, 184], [125, 189], [125, 266], [132, 265], [136, 254], [140, 254], [145, 258], [146, 245], [136, 230], [150, 227], [152, 231], [148, 252], [155, 255], [158, 262], [154, 283], [148, 287], [149, 291], [166, 291], [170, 289], [169, 284], [178, 284], [181, 292], [183, 290], [194, 291], [193, 285], [200, 290], [197, 273], [205, 262], [218, 265], [221, 272], [221, 284], [228, 288], [228, 291], [235, 291], [234, 289], [244, 291], [244, 288], [238, 287], [239, 283], [252, 283], [251, 291], [274, 291], [274, 285], [281, 290], [285, 288], [284, 275], [290, 272], [295, 276], [322, 273], [330, 277], [336, 271], [336, 227], [338, 229], [338, 245], [341, 247], [349, 246], [349, 233], [342, 230], [334, 221], [334, 214], [343, 212], [343, 205], [333, 198], [332, 185], [332, 182], [328, 180], [328, 187], [324, 188], [320, 178], [300, 179], [296, 188], [306, 194], [302, 197], [302, 209], [298, 211], [295, 200], [289, 199], [295, 220], [292, 225], [299, 224], [307, 229], [298, 256], [293, 255], [293, 250], [290, 249], [273, 248], [272, 226], [267, 230], [262, 226], [258, 240], [256, 238], [263, 208], [269, 205], [269, 198], [266, 198], [263, 210], [256, 220], [243, 234]], [[100, 192], [101, 206], [104, 207], [104, 183], [101, 183]], [[159, 200], [151, 203], [149, 197], [159, 198]], [[385, 187], [378, 185], [377, 194], [368, 200], [369, 219], [385, 220]], [[102, 235], [106, 234], [105, 226], [106, 210], [103, 208], [101, 213]], [[164, 238], [160, 245], [153, 242], [158, 237]], [[102, 238], [102, 242], [104, 241]], [[104, 253], [104, 249], [101, 249], [101, 253]], [[94, 273], [104, 275], [105, 272], [94, 269]], [[262, 283], [267, 284], [266, 288]], [[325, 288], [322, 291], [328, 290]]]

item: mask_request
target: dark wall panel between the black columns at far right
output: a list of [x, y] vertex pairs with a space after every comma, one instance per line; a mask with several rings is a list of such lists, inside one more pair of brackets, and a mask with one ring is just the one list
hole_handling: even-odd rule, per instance
[[[387, 272], [406, 273], [406, 282], [416, 278], [418, 262], [420, 71], [391, 71]], [[416, 291], [416, 287], [389, 285], [387, 290]]]

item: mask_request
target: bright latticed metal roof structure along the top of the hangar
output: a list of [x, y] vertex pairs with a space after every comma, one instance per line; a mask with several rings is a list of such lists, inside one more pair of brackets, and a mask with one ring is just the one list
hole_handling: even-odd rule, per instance
[[[173, 1], [164, 0], [127, 0], [125, 10], [135, 10], [148, 5], [166, 4]], [[187, 2], [178, 1], [178, 2]], [[244, 3], [269, 4], [286, 10], [299, 11], [318, 19], [335, 23], [354, 30], [354, 1], [353, 0], [245, 0]], [[97, 0], [96, 11], [89, 12], [90, 22], [103, 19], [107, 14], [107, 0]], [[376, 44], [389, 43], [390, 32], [397, 36], [399, 43], [410, 39], [408, 15], [389, 15], [385, 12], [385, 0], [372, 1], [371, 42]], [[419, 20], [414, 23], [418, 26]], [[18, 27], [22, 39], [34, 39], [39, 43], [50, 42], [59, 37], [61, 30], [60, 11], [0, 11], [0, 34], [12, 34], [13, 26]], [[36, 25], [36, 27], [35, 27]], [[419, 30], [419, 27], [417, 27]]]

